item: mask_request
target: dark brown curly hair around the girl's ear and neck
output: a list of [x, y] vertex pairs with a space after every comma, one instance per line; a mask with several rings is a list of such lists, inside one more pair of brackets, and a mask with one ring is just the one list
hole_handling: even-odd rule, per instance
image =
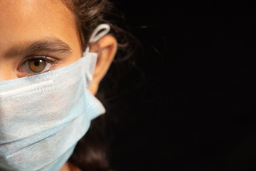
[[[136, 62], [140, 43], [132, 36], [122, 12], [114, 8], [111, 1], [63, 0], [63, 3], [74, 14], [83, 49], [90, 46], [88, 40], [92, 31], [102, 23], [110, 24], [110, 34], [117, 39], [117, 54], [96, 94], [96, 97], [105, 105], [107, 113], [92, 120], [90, 129], [78, 142], [69, 159], [82, 170], [110, 170], [111, 129], [107, 125], [114, 124], [117, 118], [109, 113], [117, 111], [118, 106], [114, 104], [115, 98], [142, 85], [139, 82], [141, 73], [138, 72]], [[111, 110], [112, 108], [115, 109]]]

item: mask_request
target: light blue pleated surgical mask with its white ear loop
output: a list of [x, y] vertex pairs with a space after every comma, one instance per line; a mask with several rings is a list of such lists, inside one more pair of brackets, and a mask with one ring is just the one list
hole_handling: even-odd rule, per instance
[[[95, 32], [102, 28], [109, 31], [105, 24]], [[0, 170], [60, 170], [90, 121], [105, 113], [88, 90], [96, 61], [87, 48], [69, 66], [0, 82]]]

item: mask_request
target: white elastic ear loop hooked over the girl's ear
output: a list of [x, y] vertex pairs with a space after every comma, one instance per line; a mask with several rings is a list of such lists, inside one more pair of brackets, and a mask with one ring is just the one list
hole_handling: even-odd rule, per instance
[[[103, 31], [102, 31], [103, 30]], [[101, 31], [101, 32], [100, 32]], [[95, 28], [95, 30], [92, 32], [92, 35], [89, 39], [90, 43], [95, 43], [96, 41], [100, 40], [103, 36], [105, 36], [110, 31], [110, 25], [109, 24], [100, 24]], [[100, 32], [100, 33], [99, 33]], [[90, 51], [90, 45], [88, 45], [85, 49], [85, 53], [88, 53]]]

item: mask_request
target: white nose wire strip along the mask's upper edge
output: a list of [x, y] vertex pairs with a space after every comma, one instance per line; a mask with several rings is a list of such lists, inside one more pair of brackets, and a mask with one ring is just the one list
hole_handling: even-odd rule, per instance
[[35, 90], [38, 88], [42, 88], [42, 87], [46, 87], [46, 86], [51, 86], [53, 85], [53, 80], [49, 80], [49, 81], [43, 81], [41, 83], [35, 83], [33, 85], [30, 86], [26, 86], [23, 88], [18, 88], [15, 90], [9, 90], [9, 91], [5, 91], [5, 92], [0, 92], [0, 97], [4, 97], [4, 96], [9, 96], [9, 95], [16, 95], [18, 93], [23, 93], [29, 90]]

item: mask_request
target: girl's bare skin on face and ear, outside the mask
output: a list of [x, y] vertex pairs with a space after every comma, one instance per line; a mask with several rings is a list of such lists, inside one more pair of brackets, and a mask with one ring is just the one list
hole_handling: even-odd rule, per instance
[[[90, 49], [100, 55], [90, 87], [95, 94], [117, 51], [117, 41], [107, 35]], [[0, 81], [39, 74], [28, 67], [28, 60], [35, 56], [46, 61], [43, 72], [81, 58], [73, 14], [60, 0], [0, 0]], [[67, 163], [64, 170], [70, 170]]]

